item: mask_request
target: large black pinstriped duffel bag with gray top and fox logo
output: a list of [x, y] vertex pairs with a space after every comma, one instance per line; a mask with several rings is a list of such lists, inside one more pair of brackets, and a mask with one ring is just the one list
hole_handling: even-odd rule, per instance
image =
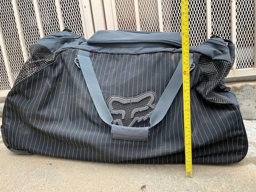
[[[234, 45], [190, 48], [193, 163], [236, 163], [248, 148], [225, 86]], [[111, 163], [184, 162], [178, 33], [57, 32], [30, 47], [6, 97], [1, 127], [16, 153]]]

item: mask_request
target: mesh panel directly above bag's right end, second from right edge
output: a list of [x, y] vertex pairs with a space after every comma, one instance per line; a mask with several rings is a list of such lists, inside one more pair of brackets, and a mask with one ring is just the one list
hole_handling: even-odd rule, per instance
[[230, 1], [212, 0], [211, 1], [212, 17], [212, 35], [218, 35], [221, 38], [231, 38], [231, 21], [230, 21]]

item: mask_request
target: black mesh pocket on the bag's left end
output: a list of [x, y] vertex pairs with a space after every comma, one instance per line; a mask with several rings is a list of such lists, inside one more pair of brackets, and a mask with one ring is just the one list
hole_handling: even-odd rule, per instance
[[30, 47], [29, 59], [25, 62], [24, 66], [20, 70], [20, 73], [15, 80], [14, 86], [34, 75], [36, 72], [48, 66], [49, 64], [52, 64], [53, 61], [55, 61], [57, 55], [64, 50], [65, 49], [62, 49], [52, 53], [43, 45], [33, 44]]

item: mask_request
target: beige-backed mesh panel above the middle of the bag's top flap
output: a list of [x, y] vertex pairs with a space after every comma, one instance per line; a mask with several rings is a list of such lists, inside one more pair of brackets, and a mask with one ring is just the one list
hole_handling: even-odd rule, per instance
[[118, 29], [136, 30], [134, 0], [116, 0]]

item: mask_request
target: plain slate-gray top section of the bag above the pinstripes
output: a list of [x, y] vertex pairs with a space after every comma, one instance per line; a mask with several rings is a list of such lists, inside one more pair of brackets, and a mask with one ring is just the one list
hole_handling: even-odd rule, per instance
[[[100, 30], [86, 41], [80, 35], [63, 31], [39, 40], [36, 44], [50, 52], [63, 48], [84, 49], [91, 52], [113, 54], [144, 54], [152, 52], [181, 52], [181, 35], [177, 32], [137, 32], [124, 30]], [[190, 52], [206, 55], [212, 60], [231, 61], [230, 51], [220, 38], [211, 38]]]

